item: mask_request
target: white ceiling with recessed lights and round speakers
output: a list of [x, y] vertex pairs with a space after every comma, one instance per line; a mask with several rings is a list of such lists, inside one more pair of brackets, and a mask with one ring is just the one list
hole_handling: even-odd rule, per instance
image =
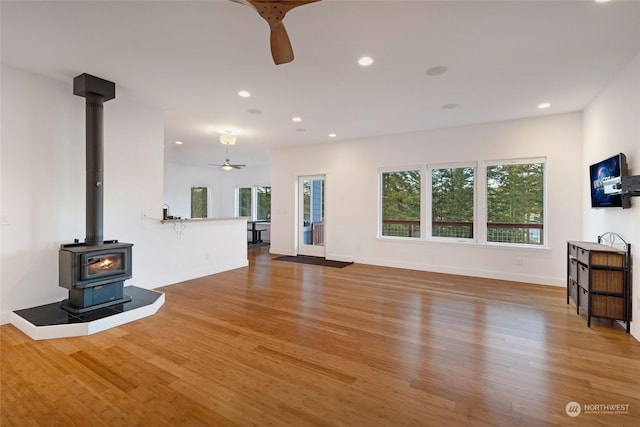
[[2, 62], [116, 82], [165, 111], [167, 158], [198, 165], [223, 160], [227, 128], [255, 166], [272, 147], [579, 111], [640, 51], [638, 1], [323, 0], [287, 14], [296, 59], [278, 66], [266, 22], [231, 1], [0, 7]]

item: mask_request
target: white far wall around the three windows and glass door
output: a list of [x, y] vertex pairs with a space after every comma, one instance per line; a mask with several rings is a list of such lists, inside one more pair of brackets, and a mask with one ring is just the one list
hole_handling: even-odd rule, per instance
[[[582, 117], [571, 113], [275, 150], [271, 252], [296, 251], [296, 177], [326, 174], [327, 258], [565, 286], [566, 241], [582, 229], [581, 146]], [[487, 160], [540, 156], [547, 158], [548, 249], [377, 238], [379, 168], [477, 161], [480, 175]]]

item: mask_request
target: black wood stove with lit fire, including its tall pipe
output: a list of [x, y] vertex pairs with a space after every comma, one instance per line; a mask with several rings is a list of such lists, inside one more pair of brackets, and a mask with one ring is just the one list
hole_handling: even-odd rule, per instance
[[103, 240], [103, 103], [115, 98], [115, 83], [89, 74], [73, 79], [74, 95], [86, 98], [86, 238], [59, 251], [59, 286], [69, 289], [62, 308], [78, 314], [131, 301], [124, 281], [132, 274], [131, 243]]

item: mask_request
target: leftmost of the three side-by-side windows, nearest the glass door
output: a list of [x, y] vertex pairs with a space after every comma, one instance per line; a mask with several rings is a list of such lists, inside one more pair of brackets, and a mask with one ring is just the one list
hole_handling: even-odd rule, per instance
[[381, 235], [420, 237], [420, 171], [381, 173]]

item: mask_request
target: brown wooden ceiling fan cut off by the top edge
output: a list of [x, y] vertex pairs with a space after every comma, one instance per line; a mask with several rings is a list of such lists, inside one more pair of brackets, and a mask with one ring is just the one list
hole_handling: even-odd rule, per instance
[[291, 9], [320, 0], [231, 0], [255, 9], [271, 28], [271, 56], [276, 65], [293, 61], [293, 48], [282, 20]]

